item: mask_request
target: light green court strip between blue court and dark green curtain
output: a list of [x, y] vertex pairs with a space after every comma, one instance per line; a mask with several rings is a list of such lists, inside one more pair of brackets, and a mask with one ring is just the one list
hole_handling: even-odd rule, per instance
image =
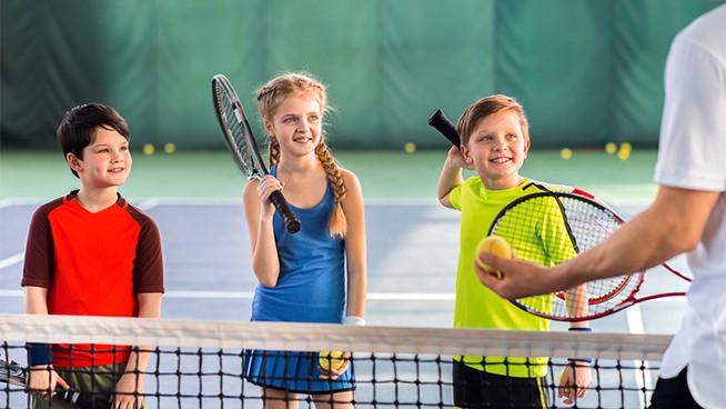
[[[436, 201], [436, 182], [446, 151], [334, 151], [354, 171], [366, 200]], [[647, 203], [653, 182], [654, 150], [634, 150], [621, 160], [604, 150], [575, 150], [564, 160], [559, 151], [532, 150], [522, 174], [571, 184], [606, 201]], [[473, 174], [473, 173], [468, 173]], [[121, 192], [139, 198], [241, 197], [245, 179], [226, 151], [133, 152], [133, 170]], [[0, 199], [52, 199], [79, 186], [59, 151], [0, 151]]]

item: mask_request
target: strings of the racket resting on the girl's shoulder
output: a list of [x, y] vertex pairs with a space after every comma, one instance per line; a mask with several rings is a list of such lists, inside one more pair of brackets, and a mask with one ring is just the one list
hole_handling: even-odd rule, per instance
[[254, 166], [254, 160], [248, 148], [244, 129], [236, 118], [235, 107], [226, 90], [216, 84], [214, 88], [215, 100], [220, 118], [224, 122], [224, 139], [234, 153], [233, 158], [240, 170], [249, 178], [259, 178], [260, 172]]

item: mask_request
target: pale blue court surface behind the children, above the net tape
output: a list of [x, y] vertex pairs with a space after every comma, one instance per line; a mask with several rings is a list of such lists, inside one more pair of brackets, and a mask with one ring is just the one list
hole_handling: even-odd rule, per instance
[[[231, 160], [229, 162], [233, 169]], [[432, 174], [437, 172], [440, 163], [433, 164]], [[435, 200], [435, 190], [431, 196], [426, 192], [420, 197], [390, 198], [387, 193], [380, 194], [384, 191], [382, 188], [366, 189], [366, 183], [373, 184], [371, 180], [377, 178], [365, 171], [359, 176], [364, 191], [373, 192], [366, 196], [367, 323], [450, 328], [458, 251], [458, 212], [441, 207]], [[137, 196], [133, 190], [128, 193], [127, 198], [133, 205], [157, 221], [162, 233], [167, 287], [163, 318], [249, 320], [256, 280], [250, 267], [250, 240], [241, 198], [234, 197], [243, 182], [240, 182], [239, 174], [233, 178], [235, 193], [216, 198], [174, 198], [168, 194], [153, 198]], [[435, 176], [426, 178], [435, 183]], [[598, 192], [638, 189], [597, 184], [596, 181], [585, 187]], [[654, 191], [652, 188], [647, 187], [645, 198], [634, 194], [607, 198], [628, 219], [647, 206]], [[42, 202], [67, 191], [62, 188], [53, 196], [46, 192], [42, 199], [7, 196], [0, 199], [0, 313], [20, 313], [23, 309], [20, 279], [32, 212]], [[683, 257], [672, 260], [672, 265], [688, 272]], [[684, 282], [664, 270], [654, 269], [646, 275], [645, 293], [686, 289]], [[591, 322], [591, 326], [598, 332], [670, 335], [676, 332], [684, 308], [684, 297], [653, 300]], [[566, 330], [566, 325], [553, 322], [553, 330]]]

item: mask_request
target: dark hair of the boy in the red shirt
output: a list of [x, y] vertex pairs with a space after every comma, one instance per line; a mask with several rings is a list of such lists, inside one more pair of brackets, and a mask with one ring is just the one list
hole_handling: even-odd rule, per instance
[[[131, 137], [127, 121], [113, 108], [95, 102], [73, 107], [65, 112], [56, 131], [63, 158], [73, 153], [78, 159], [83, 159], [83, 148], [93, 142], [99, 127], [114, 130], [127, 140]], [[71, 172], [78, 178], [74, 170], [71, 169]]]

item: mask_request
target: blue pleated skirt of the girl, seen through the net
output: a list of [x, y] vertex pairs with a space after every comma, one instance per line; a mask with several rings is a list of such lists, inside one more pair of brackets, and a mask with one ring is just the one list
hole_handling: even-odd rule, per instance
[[248, 350], [244, 375], [260, 387], [295, 393], [335, 393], [355, 389], [353, 361], [336, 379], [320, 379], [317, 352]]

